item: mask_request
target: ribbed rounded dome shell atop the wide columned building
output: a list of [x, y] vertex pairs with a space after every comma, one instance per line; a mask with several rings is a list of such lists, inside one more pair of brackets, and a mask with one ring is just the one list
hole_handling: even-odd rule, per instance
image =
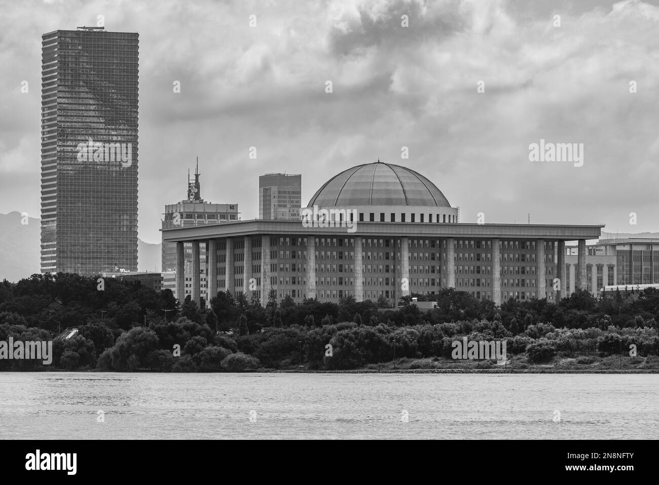
[[451, 207], [442, 191], [423, 175], [391, 163], [366, 163], [329, 179], [307, 207]]

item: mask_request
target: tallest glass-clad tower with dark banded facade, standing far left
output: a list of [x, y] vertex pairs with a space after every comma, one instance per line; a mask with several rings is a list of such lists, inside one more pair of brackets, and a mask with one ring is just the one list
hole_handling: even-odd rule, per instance
[[42, 36], [42, 273], [137, 270], [138, 34]]

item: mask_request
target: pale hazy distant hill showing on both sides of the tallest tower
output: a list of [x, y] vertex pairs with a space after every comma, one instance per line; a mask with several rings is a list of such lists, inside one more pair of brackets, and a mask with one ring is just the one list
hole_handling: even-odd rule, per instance
[[[41, 219], [28, 217], [21, 224], [20, 212], [0, 214], [0, 281], [18, 281], [40, 271]], [[160, 271], [160, 244], [137, 240], [139, 271]]]

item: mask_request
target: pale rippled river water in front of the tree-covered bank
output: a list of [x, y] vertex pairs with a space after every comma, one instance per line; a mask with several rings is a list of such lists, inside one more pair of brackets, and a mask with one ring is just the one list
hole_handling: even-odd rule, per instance
[[656, 439], [659, 374], [0, 373], [0, 438]]

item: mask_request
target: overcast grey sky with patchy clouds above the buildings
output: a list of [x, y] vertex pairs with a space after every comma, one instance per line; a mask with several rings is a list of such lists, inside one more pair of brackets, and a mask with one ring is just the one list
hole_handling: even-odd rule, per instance
[[[434, 181], [464, 222], [530, 213], [657, 231], [657, 4], [0, 1], [0, 212], [40, 216], [42, 34], [103, 15], [107, 30], [140, 34], [144, 241], [159, 242], [196, 156], [204, 198], [239, 204], [243, 219], [258, 216], [262, 173], [301, 173], [306, 205], [379, 157]], [[583, 166], [529, 161], [541, 138], [583, 143]]]

